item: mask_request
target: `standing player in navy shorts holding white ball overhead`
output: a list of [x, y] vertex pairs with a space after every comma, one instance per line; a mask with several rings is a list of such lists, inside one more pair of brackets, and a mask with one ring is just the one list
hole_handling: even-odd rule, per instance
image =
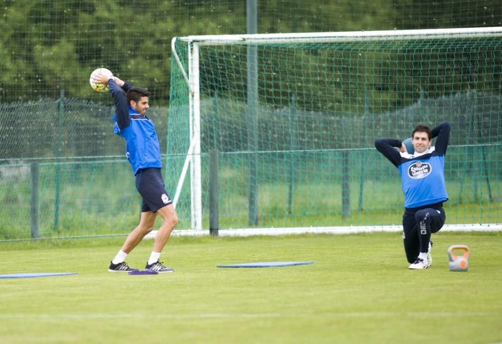
[[[178, 216], [164, 188], [157, 132], [154, 123], [146, 116], [150, 92], [141, 87], [134, 87], [115, 76], [100, 75], [96, 78], [96, 82], [108, 84], [115, 101], [113, 131], [127, 141], [126, 156], [136, 176], [136, 189], [143, 198], [140, 224], [129, 234], [122, 248], [110, 262], [108, 271], [138, 270], [130, 267], [124, 260], [152, 231], [157, 214], [159, 214], [164, 222], [155, 237], [153, 251], [145, 268], [157, 272], [171, 272], [173, 269], [164, 266], [159, 258], [173, 228], [178, 224]], [[127, 95], [124, 92], [127, 92]]]

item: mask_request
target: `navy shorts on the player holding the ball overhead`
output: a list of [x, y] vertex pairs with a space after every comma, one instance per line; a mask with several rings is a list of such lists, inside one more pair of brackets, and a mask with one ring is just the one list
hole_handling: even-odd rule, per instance
[[173, 203], [164, 186], [160, 168], [142, 168], [136, 174], [136, 190], [143, 198], [141, 212], [155, 213]]

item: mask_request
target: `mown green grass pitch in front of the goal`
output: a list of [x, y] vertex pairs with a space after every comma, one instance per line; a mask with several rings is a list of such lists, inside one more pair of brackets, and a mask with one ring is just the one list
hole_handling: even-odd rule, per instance
[[[427, 270], [408, 269], [400, 233], [173, 237], [174, 273], [108, 273], [124, 237], [0, 243], [0, 342], [494, 343], [502, 341], [502, 232], [437, 233]], [[153, 242], [128, 257], [143, 268]], [[450, 272], [447, 249], [470, 247]], [[277, 268], [216, 268], [314, 261]]]

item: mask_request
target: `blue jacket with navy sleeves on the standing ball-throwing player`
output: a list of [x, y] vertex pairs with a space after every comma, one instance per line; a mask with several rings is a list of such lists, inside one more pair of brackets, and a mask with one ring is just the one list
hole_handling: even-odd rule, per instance
[[127, 82], [120, 87], [113, 79], [108, 81], [108, 88], [115, 101], [113, 131], [126, 140], [126, 157], [136, 175], [141, 168], [162, 168], [162, 160], [154, 123], [127, 103], [124, 91], [133, 87]]

